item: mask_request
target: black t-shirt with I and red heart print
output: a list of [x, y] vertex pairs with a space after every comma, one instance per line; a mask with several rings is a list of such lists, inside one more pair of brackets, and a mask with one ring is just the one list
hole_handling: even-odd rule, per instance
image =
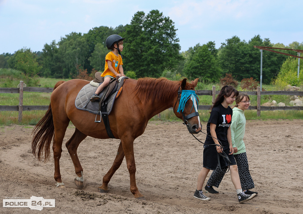
[[214, 140], [210, 134], [210, 124], [216, 124], [217, 138], [221, 141], [223, 146], [229, 146], [227, 140], [227, 130], [231, 125], [232, 109], [231, 107], [224, 108], [222, 104], [214, 107], [211, 110], [210, 117], [206, 125], [207, 136], [205, 139], [206, 144], [214, 144]]

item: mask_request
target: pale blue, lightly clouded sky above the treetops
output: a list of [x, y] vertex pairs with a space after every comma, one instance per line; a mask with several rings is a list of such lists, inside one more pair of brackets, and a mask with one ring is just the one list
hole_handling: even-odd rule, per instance
[[233, 36], [303, 42], [303, 0], [0, 0], [0, 54], [42, 51], [71, 32], [130, 24], [154, 9], [174, 22], [182, 52], [209, 41], [219, 48]]

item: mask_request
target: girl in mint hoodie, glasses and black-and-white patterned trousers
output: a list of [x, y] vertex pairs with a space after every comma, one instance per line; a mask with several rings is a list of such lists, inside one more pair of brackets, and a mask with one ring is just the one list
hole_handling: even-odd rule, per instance
[[[232, 106], [232, 119], [231, 119], [231, 142], [232, 147], [234, 149], [234, 157], [236, 159], [238, 165], [238, 172], [241, 182], [241, 187], [246, 194], [256, 195], [258, 192], [252, 192], [249, 189], [255, 187], [254, 181], [251, 178], [249, 168], [248, 168], [248, 160], [246, 156], [245, 143], [243, 141], [244, 133], [245, 133], [245, 124], [246, 119], [244, 116], [244, 111], [248, 109], [250, 104], [249, 96], [246, 93], [239, 93], [236, 97], [236, 105]], [[222, 169], [223, 172], [226, 172], [227, 168]], [[211, 173], [211, 176], [208, 179], [207, 185], [205, 189], [208, 192], [213, 194], [218, 194], [219, 192], [213, 189], [212, 186], [219, 187], [223, 176], [225, 175], [220, 169], [217, 168]]]

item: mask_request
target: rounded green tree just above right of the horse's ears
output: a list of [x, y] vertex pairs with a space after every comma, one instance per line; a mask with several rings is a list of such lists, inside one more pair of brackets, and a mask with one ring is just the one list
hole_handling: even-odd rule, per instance
[[[213, 48], [208, 45], [197, 44], [188, 50], [190, 57], [184, 65], [184, 74], [190, 79], [199, 78], [200, 81], [217, 82], [221, 76], [221, 69], [214, 55]], [[213, 43], [215, 45], [215, 43]]]

